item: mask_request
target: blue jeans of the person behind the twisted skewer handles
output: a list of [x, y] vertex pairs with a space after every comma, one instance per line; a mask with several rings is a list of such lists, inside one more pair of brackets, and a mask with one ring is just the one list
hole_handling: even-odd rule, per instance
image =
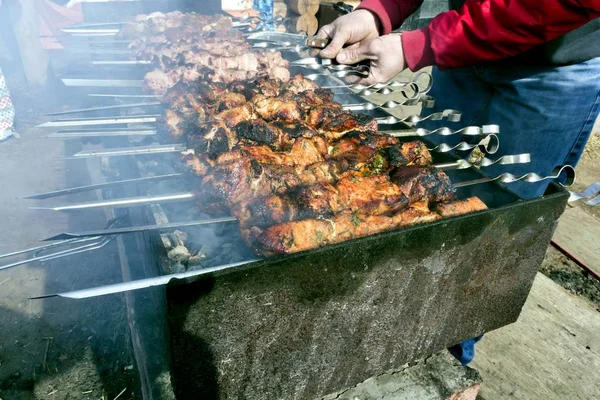
[[[531, 154], [529, 164], [483, 169], [489, 176], [503, 172], [546, 176], [558, 165], [574, 167], [579, 161], [600, 113], [600, 58], [559, 67], [500, 61], [447, 71], [434, 68], [429, 94], [436, 100], [435, 111], [455, 109], [462, 112], [462, 119], [454, 124], [427, 121], [420, 126], [496, 124], [500, 126], [500, 148], [490, 158]], [[429, 138], [449, 144], [461, 140], [453, 136]], [[543, 195], [547, 185], [548, 181], [519, 182], [508, 184], [508, 188], [523, 199], [531, 199]]]

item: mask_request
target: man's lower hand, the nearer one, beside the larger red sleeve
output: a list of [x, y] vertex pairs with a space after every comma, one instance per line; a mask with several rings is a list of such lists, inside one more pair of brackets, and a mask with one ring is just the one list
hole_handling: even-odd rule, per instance
[[348, 78], [352, 83], [363, 85], [387, 82], [406, 69], [402, 40], [398, 34], [381, 36], [356, 48], [345, 49], [337, 55], [336, 60], [340, 64], [356, 64], [363, 60], [371, 60], [371, 73], [367, 78]]

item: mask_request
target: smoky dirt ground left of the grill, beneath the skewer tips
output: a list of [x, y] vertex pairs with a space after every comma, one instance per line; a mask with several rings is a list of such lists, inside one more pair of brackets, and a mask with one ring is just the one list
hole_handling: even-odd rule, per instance
[[[34, 204], [16, 199], [77, 182], [65, 180], [62, 160], [73, 149], [44, 139], [33, 128], [43, 119], [41, 113], [54, 105], [24, 90], [20, 75], [9, 74], [7, 79], [21, 138], [0, 142], [0, 254], [39, 246], [40, 238], [78, 224], [71, 216], [29, 210]], [[86, 179], [85, 169], [67, 168], [77, 180]], [[103, 215], [89, 214], [80, 223], [98, 226], [105, 221]], [[112, 400], [121, 392], [119, 399], [137, 398], [122, 296], [76, 302], [28, 299], [121, 281], [114, 247], [98, 250], [94, 257], [88, 252], [68, 262], [59, 259], [0, 271], [0, 399]], [[1, 259], [0, 264], [18, 259]]]

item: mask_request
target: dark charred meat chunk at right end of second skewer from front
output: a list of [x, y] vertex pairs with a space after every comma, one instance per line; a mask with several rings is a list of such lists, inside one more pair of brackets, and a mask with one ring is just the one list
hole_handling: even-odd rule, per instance
[[392, 173], [392, 181], [400, 186], [411, 204], [424, 200], [446, 202], [456, 194], [448, 175], [434, 167], [400, 167]]

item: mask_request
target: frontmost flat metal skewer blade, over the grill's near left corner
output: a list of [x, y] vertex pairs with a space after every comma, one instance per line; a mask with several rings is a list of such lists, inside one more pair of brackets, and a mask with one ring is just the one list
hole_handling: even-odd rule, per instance
[[240, 261], [240, 262], [231, 263], [231, 264], [219, 265], [216, 267], [209, 267], [209, 268], [197, 269], [197, 270], [193, 270], [193, 271], [180, 272], [177, 274], [163, 275], [163, 276], [158, 276], [158, 277], [154, 277], [154, 278], [138, 279], [135, 281], [115, 283], [112, 285], [105, 285], [105, 286], [100, 286], [100, 287], [95, 287], [95, 288], [75, 290], [75, 291], [71, 291], [71, 292], [63, 292], [63, 293], [54, 293], [54, 294], [47, 294], [47, 295], [42, 295], [42, 296], [35, 296], [35, 297], [30, 297], [29, 299], [30, 300], [46, 299], [49, 297], [65, 297], [65, 298], [70, 298], [70, 299], [87, 299], [90, 297], [104, 296], [104, 295], [115, 294], [115, 293], [123, 293], [123, 292], [128, 292], [131, 290], [145, 289], [145, 288], [149, 288], [149, 287], [153, 287], [153, 286], [162, 286], [162, 285], [166, 285], [171, 280], [186, 279], [186, 278], [191, 278], [194, 276], [207, 275], [207, 274], [211, 274], [214, 272], [224, 271], [227, 269], [239, 267], [241, 265], [251, 264], [251, 263], [254, 263], [257, 261], [262, 261], [262, 260], [263, 260], [262, 258], [255, 258], [255, 259]]

